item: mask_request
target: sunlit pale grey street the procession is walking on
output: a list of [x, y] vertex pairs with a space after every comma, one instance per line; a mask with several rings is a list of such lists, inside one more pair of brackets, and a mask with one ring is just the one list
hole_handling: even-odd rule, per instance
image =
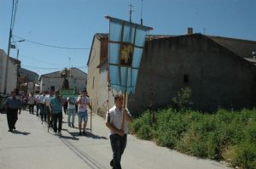
[[[75, 127], [67, 127], [64, 116], [62, 136], [56, 136], [40, 118], [23, 110], [16, 130], [8, 132], [7, 118], [0, 114], [1, 169], [105, 169], [111, 168], [112, 150], [108, 128], [102, 117], [92, 116], [92, 131], [79, 136]], [[90, 118], [90, 117], [89, 117]], [[90, 123], [88, 124], [90, 127]], [[90, 130], [89, 130], [90, 131]], [[124, 169], [228, 169], [223, 163], [197, 159], [175, 150], [159, 147], [128, 135], [121, 161]]]

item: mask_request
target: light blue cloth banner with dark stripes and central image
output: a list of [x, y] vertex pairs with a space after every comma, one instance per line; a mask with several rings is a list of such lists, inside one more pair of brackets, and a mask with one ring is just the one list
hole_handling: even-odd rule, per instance
[[151, 28], [112, 17], [109, 19], [108, 64], [112, 89], [135, 93], [145, 37]]

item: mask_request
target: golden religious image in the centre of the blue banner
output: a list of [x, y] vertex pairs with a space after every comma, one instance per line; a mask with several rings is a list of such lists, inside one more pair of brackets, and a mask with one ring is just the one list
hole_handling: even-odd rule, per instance
[[132, 63], [132, 45], [130, 43], [123, 43], [119, 56], [119, 65], [131, 66]]

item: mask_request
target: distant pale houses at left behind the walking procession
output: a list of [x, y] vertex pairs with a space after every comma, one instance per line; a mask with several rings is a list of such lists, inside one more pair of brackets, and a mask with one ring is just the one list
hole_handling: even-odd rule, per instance
[[[78, 68], [70, 68], [67, 76], [69, 87], [79, 91], [87, 85], [87, 74]], [[8, 57], [0, 49], [0, 94], [10, 94], [15, 88], [21, 93], [27, 93], [28, 83], [32, 84], [31, 92], [55, 91], [61, 89], [63, 77], [61, 70], [38, 76], [32, 70], [20, 68], [20, 60]]]

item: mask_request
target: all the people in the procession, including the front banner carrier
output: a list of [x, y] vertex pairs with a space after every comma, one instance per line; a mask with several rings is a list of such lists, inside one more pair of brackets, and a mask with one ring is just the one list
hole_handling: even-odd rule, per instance
[[[74, 127], [74, 116], [76, 105], [78, 107], [79, 117], [79, 135], [86, 135], [86, 125], [88, 121], [88, 108], [92, 110], [90, 99], [87, 91], [84, 90], [79, 98], [69, 97], [67, 100], [61, 98], [60, 91], [42, 93], [42, 95], [34, 96], [32, 93], [28, 97], [29, 112], [33, 113], [33, 105], [37, 104], [37, 115], [40, 110], [41, 120], [48, 121], [49, 127], [52, 126], [55, 134], [61, 135], [62, 128], [62, 106], [67, 101], [67, 123], [69, 127]], [[19, 113], [22, 109], [22, 100], [16, 96], [15, 91], [6, 99], [5, 106], [7, 108], [7, 120], [9, 124], [9, 132], [15, 129], [15, 123], [18, 120]], [[48, 117], [48, 118], [46, 118]], [[123, 96], [116, 94], [114, 96], [114, 105], [106, 113], [106, 126], [110, 130], [109, 138], [111, 148], [113, 150], [113, 158], [110, 166], [114, 169], [121, 169], [120, 161], [127, 143], [128, 127], [127, 122], [131, 122], [130, 111], [123, 106]], [[84, 124], [83, 124], [84, 122]], [[58, 125], [57, 125], [58, 124]]]

